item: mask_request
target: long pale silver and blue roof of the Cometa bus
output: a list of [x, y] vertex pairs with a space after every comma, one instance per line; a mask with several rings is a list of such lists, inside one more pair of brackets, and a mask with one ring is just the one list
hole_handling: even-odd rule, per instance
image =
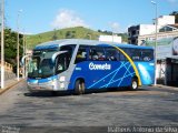
[[62, 39], [57, 41], [49, 41], [41, 44], [38, 44], [34, 50], [41, 49], [55, 49], [66, 44], [86, 44], [86, 45], [102, 45], [110, 47], [116, 45], [119, 48], [136, 48], [136, 49], [154, 49], [152, 47], [135, 45], [135, 44], [125, 44], [116, 42], [102, 42], [97, 40], [83, 40], [83, 39]]

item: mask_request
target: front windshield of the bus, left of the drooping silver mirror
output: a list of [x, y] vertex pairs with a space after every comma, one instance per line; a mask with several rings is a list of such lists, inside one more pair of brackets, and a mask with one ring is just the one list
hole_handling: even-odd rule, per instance
[[55, 74], [55, 64], [51, 59], [33, 57], [29, 64], [29, 78], [48, 78]]

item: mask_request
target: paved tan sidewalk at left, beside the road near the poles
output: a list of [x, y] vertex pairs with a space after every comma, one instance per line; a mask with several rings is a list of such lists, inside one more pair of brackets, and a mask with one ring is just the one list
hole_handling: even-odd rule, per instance
[[19, 81], [17, 80], [17, 78], [13, 78], [11, 80], [7, 80], [4, 81], [4, 88], [0, 89], [0, 94], [2, 94], [3, 92], [6, 92], [7, 90], [11, 89], [12, 86], [14, 86], [16, 84], [18, 84], [19, 82], [23, 81], [24, 79], [20, 79]]

